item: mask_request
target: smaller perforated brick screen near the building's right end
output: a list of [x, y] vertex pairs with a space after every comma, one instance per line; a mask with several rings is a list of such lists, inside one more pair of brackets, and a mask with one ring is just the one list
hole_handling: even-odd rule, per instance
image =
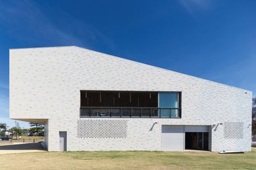
[[224, 139], [243, 139], [243, 122], [224, 122]]

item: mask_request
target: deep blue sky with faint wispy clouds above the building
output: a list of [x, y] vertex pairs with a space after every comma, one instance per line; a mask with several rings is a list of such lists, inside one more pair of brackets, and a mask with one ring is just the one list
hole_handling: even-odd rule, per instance
[[255, 9], [234, 0], [0, 1], [0, 122], [14, 126], [9, 48], [76, 45], [255, 96]]

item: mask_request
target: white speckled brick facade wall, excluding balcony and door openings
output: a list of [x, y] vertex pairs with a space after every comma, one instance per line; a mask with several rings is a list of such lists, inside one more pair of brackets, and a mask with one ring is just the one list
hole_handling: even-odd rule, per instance
[[[182, 92], [182, 118], [79, 118], [80, 90]], [[211, 126], [210, 150], [250, 151], [251, 97], [76, 46], [10, 50], [10, 117], [46, 124], [51, 151], [60, 150], [59, 131], [68, 150], [161, 150], [162, 125]]]

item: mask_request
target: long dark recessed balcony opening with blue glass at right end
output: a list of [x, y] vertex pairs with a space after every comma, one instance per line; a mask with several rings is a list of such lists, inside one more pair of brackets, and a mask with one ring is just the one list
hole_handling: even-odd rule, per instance
[[81, 118], [181, 118], [181, 92], [81, 91]]

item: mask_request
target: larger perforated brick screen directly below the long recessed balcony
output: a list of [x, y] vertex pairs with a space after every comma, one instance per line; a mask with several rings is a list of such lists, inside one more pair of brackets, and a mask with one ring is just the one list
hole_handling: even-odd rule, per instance
[[78, 138], [126, 138], [127, 120], [77, 120]]

